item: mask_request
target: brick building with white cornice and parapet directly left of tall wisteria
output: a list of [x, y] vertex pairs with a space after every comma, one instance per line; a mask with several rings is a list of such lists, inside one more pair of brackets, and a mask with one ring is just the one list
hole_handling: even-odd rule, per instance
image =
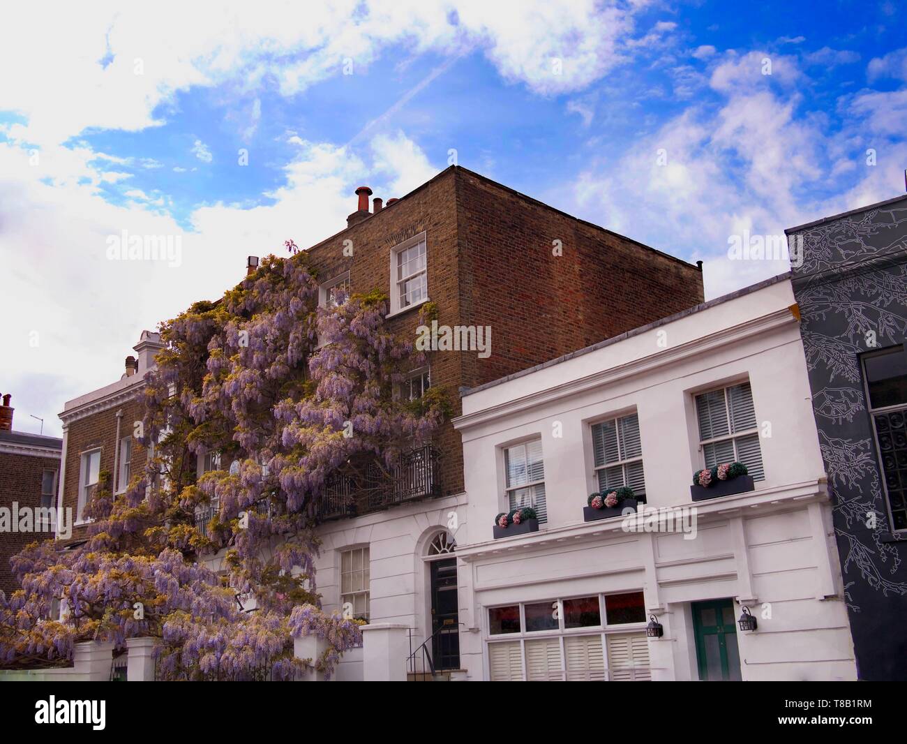
[[63, 508], [73, 510], [74, 539], [83, 537], [82, 509], [101, 474], [110, 474], [111, 487], [120, 493], [145, 465], [145, 449], [132, 432], [143, 416], [138, 395], [146, 373], [154, 368], [154, 355], [163, 348], [161, 336], [143, 330], [133, 348], [136, 356], [126, 357], [119, 380], [68, 401], [60, 414], [63, 467], [59, 498]]

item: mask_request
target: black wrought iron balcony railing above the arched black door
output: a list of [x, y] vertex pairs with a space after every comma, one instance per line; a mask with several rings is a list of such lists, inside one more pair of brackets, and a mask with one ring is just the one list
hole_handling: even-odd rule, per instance
[[362, 475], [337, 474], [317, 504], [322, 521], [368, 514], [441, 495], [438, 451], [432, 445], [401, 453], [390, 467], [368, 463]]

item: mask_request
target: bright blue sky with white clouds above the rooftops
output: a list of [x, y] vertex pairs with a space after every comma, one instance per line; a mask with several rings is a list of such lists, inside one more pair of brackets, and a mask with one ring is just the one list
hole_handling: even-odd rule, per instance
[[[119, 379], [143, 328], [218, 298], [248, 255], [335, 234], [356, 186], [386, 201], [451, 162], [703, 260], [707, 299], [781, 273], [783, 257], [729, 246], [904, 192], [904, 16], [834, 0], [5, 4], [15, 428], [60, 436], [64, 402]], [[117, 259], [124, 235], [180, 252]]]

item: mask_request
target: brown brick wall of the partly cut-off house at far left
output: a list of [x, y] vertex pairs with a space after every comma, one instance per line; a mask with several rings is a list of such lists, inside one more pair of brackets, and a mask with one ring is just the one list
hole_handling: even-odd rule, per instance
[[[0, 506], [12, 508], [14, 501], [20, 507], [34, 509], [41, 506], [41, 480], [45, 468], [59, 471], [60, 458], [0, 453]], [[9, 559], [28, 543], [53, 536], [50, 532], [0, 533], [0, 590], [6, 592], [7, 597], [20, 588], [10, 570]]]

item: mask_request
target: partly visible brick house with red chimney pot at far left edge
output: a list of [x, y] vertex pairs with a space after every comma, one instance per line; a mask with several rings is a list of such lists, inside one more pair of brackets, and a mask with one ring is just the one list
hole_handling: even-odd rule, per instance
[[53, 526], [36, 520], [34, 512], [27, 521], [16, 516], [24, 514], [24, 509], [51, 509], [56, 505], [63, 444], [54, 436], [15, 431], [10, 398], [3, 396], [0, 406], [0, 510], [9, 510], [8, 515], [0, 515], [0, 592], [7, 596], [19, 588], [9, 559], [42, 535], [53, 536]]

